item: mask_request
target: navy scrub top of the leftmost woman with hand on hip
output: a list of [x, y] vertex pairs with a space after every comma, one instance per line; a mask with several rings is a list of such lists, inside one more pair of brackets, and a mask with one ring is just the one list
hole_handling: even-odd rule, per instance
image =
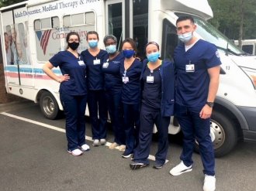
[[49, 62], [54, 67], [60, 67], [62, 75], [68, 74], [70, 79], [61, 82], [60, 92], [69, 95], [87, 94], [86, 85], [86, 65], [78, 63], [82, 60], [81, 56], [75, 57], [74, 54], [65, 50], [55, 54]]

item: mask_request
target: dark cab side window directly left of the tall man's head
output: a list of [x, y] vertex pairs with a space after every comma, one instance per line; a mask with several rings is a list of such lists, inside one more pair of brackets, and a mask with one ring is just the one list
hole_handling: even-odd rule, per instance
[[173, 26], [168, 19], [164, 19], [161, 58], [173, 61], [173, 53], [177, 45], [178, 36], [176, 33], [176, 27]]

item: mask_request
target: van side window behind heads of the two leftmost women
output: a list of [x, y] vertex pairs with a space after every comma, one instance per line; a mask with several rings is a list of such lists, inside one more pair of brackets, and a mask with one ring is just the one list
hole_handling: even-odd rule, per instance
[[[80, 36], [80, 45], [78, 46], [78, 52], [88, 48], [86, 41], [86, 35], [88, 31], [95, 30], [95, 13], [85, 12], [75, 15], [64, 15], [63, 17], [63, 30], [64, 36], [67, 36], [68, 32], [78, 32]], [[65, 47], [67, 42], [65, 40]]]

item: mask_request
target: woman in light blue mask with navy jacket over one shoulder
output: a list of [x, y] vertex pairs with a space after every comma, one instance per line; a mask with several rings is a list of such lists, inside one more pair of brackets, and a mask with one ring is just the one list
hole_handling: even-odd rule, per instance
[[139, 145], [134, 150], [131, 169], [149, 165], [150, 142], [154, 124], [158, 132], [158, 149], [155, 155], [155, 169], [161, 169], [168, 152], [168, 126], [174, 114], [175, 70], [174, 63], [160, 60], [159, 45], [146, 45], [147, 60], [144, 60], [140, 75], [142, 104], [140, 107]]

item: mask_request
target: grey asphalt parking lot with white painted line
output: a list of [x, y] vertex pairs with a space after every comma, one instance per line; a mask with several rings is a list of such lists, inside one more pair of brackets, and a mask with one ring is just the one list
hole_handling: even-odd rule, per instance
[[[182, 152], [177, 137], [169, 137], [169, 162], [162, 169], [153, 169], [151, 161], [149, 167], [133, 171], [122, 152], [93, 147], [89, 123], [86, 128], [91, 150], [74, 157], [66, 152], [64, 118], [47, 120], [29, 101], [0, 104], [1, 190], [202, 190], [202, 163], [196, 153], [192, 172], [169, 174]], [[107, 141], [112, 142], [111, 129]], [[153, 141], [150, 154], [156, 149]], [[256, 190], [255, 159], [256, 145], [244, 142], [216, 159], [216, 190]]]

